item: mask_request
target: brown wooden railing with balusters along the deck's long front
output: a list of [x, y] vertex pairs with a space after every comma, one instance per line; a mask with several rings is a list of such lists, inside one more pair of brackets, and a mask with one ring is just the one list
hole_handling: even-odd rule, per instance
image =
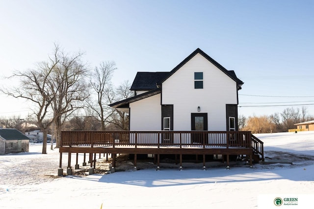
[[61, 146], [252, 148], [249, 131], [62, 131]]

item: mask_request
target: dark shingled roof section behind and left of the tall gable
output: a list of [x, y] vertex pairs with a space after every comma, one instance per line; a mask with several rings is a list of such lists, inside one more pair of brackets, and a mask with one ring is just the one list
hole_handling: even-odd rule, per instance
[[132, 91], [149, 91], [157, 89], [157, 83], [170, 72], [137, 72], [131, 86]]

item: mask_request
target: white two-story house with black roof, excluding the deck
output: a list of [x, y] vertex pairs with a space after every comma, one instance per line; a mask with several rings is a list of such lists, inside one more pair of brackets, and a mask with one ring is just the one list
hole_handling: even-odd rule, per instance
[[130, 114], [131, 131], [237, 131], [242, 84], [197, 48], [169, 72], [137, 72], [135, 96], [110, 106]]

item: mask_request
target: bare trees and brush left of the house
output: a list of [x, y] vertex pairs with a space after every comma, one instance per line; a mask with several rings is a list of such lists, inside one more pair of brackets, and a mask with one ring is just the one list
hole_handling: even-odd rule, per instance
[[[111, 78], [117, 69], [113, 61], [91, 68], [83, 61], [83, 52], [68, 53], [54, 45], [47, 61], [33, 69], [15, 71], [8, 77], [20, 85], [0, 88], [0, 92], [32, 103], [29, 118], [0, 118], [0, 127], [25, 132], [30, 127], [44, 133], [43, 151], [47, 153], [47, 134], [56, 137], [60, 146], [61, 130], [128, 130], [129, 116], [108, 104], [133, 94], [124, 81], [115, 87]], [[30, 126], [32, 124], [32, 126]]]

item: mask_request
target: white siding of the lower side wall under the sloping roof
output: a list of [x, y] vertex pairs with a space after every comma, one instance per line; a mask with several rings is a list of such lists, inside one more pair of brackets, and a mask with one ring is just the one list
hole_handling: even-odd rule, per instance
[[160, 93], [130, 103], [130, 130], [156, 131], [161, 129]]

